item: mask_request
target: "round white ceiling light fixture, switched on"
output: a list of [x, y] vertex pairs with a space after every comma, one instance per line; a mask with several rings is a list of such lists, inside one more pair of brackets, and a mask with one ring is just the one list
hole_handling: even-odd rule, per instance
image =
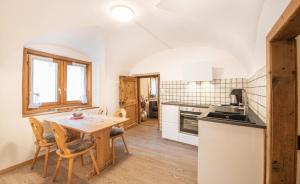
[[113, 18], [119, 22], [130, 22], [134, 18], [134, 11], [128, 6], [117, 5], [111, 8]]

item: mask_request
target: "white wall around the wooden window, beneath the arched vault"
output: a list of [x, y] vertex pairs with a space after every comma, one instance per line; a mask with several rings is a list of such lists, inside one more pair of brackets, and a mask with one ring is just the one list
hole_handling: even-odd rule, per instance
[[[84, 53], [61, 45], [37, 44], [25, 45], [28, 48], [58, 54], [75, 59], [91, 61], [91, 58]], [[0, 81], [3, 83], [0, 90], [0, 100], [3, 105], [0, 107], [0, 170], [13, 164], [29, 160], [34, 152], [34, 137], [27, 121], [22, 118], [22, 51], [11, 52], [11, 62], [0, 63]], [[18, 62], [16, 62], [18, 61]], [[93, 62], [93, 84], [99, 85], [98, 77], [99, 64]], [[99, 104], [99, 93], [95, 91], [93, 105]], [[5, 104], [5, 105], [4, 105]]]

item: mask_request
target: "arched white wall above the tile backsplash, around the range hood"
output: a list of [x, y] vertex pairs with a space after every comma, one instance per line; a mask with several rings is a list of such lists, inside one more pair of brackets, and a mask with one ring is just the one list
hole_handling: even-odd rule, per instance
[[[182, 68], [195, 62], [205, 62], [214, 68], [214, 78], [247, 77], [247, 69], [230, 53], [210, 47], [170, 49], [141, 60], [131, 74], [160, 73], [162, 81], [183, 80]], [[201, 68], [199, 68], [201, 72]]]

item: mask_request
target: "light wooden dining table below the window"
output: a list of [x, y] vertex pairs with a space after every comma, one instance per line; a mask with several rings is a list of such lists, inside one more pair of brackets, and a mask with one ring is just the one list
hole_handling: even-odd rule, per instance
[[72, 115], [65, 115], [45, 119], [47, 122], [57, 123], [66, 129], [93, 136], [96, 143], [96, 162], [100, 171], [112, 163], [110, 149], [111, 128], [128, 120], [128, 118], [103, 115], [84, 115], [82, 119], [74, 119]]

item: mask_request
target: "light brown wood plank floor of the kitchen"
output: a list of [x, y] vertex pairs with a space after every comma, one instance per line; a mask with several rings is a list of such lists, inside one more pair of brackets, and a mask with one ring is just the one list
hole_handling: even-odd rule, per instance
[[[75, 161], [73, 183], [109, 184], [194, 184], [197, 183], [197, 148], [164, 140], [156, 127], [139, 125], [126, 132], [131, 152], [123, 152], [117, 142], [116, 165], [105, 169], [99, 176], [86, 179], [91, 164], [86, 156], [86, 166]], [[43, 160], [39, 160], [32, 171], [24, 166], [0, 176], [1, 184], [47, 184], [52, 183], [56, 155], [51, 156], [48, 177], [42, 177]], [[58, 181], [66, 182], [66, 162], [63, 162]]]

